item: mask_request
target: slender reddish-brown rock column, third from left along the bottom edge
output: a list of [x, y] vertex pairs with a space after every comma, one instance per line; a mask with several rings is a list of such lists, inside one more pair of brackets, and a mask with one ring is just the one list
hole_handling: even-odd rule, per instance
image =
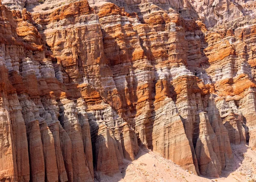
[[[9, 73], [9, 80], [16, 88], [21, 114], [26, 125], [26, 137], [29, 151], [30, 181], [40, 182], [45, 180], [44, 152], [39, 128], [39, 121], [33, 114], [33, 104], [26, 93], [22, 77], [17, 71]], [[11, 102], [10, 102], [11, 104]]]

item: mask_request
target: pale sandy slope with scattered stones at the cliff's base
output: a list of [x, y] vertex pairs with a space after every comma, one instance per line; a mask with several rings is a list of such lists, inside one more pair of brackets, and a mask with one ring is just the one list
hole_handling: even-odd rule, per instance
[[123, 166], [122, 176], [105, 177], [101, 182], [254, 182], [256, 153], [245, 145], [232, 148], [232, 167], [216, 179], [194, 175], [159, 154], [141, 149], [137, 160]]

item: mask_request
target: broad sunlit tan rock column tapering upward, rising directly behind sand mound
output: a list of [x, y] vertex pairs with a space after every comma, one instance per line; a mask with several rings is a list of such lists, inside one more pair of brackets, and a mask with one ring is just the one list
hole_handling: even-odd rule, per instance
[[[162, 107], [159, 107], [158, 104], [161, 104]], [[154, 151], [196, 173], [189, 140], [186, 137], [175, 103], [171, 98], [166, 98], [155, 105], [157, 109], [155, 110], [153, 128]]]

